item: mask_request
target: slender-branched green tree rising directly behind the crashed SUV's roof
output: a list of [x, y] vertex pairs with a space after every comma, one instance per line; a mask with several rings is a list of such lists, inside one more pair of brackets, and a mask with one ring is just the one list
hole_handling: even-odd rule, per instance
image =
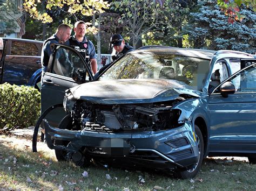
[[[191, 4], [194, 4], [194, 1], [124, 0], [114, 1], [111, 4], [111, 9], [120, 12], [122, 17], [120, 22], [124, 23], [124, 31], [127, 31], [131, 37], [133, 47], [139, 47], [138, 41], [142, 37], [144, 37], [144, 41], [146, 39], [146, 42], [151, 44], [152, 36], [161, 38], [161, 43], [165, 45], [176, 41], [175, 46], [182, 47], [181, 24], [185, 16], [188, 15], [190, 10], [188, 6]], [[168, 37], [165, 38], [166, 36]], [[170, 38], [172, 39], [170, 40]], [[154, 42], [156, 41], [152, 41], [152, 43]]]

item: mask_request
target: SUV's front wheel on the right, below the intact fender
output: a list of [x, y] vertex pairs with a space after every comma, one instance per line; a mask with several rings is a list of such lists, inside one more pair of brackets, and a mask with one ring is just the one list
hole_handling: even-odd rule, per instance
[[202, 165], [202, 161], [203, 161], [203, 157], [204, 157], [204, 139], [203, 139], [203, 135], [197, 125], [194, 126], [194, 129], [196, 130], [199, 159], [198, 159], [197, 163], [194, 164], [191, 169], [188, 169], [186, 171], [177, 172], [177, 176], [180, 179], [194, 178], [194, 176], [196, 176], [197, 173], [199, 172], [201, 165]]

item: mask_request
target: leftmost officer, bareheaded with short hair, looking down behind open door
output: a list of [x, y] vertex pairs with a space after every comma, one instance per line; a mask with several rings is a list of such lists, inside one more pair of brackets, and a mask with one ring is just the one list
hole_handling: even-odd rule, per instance
[[50, 37], [49, 39], [44, 41], [42, 54], [41, 54], [41, 63], [42, 63], [42, 77], [47, 70], [48, 62], [50, 59], [51, 51], [51, 44], [63, 44], [65, 41], [69, 40], [71, 35], [71, 27], [66, 24], [60, 24], [56, 33]]

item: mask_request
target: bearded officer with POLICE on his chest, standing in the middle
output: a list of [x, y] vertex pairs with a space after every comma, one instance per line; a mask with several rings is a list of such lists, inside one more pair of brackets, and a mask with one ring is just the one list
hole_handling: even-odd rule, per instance
[[65, 45], [70, 46], [80, 54], [87, 63], [91, 62], [91, 69], [93, 74], [97, 73], [97, 61], [96, 61], [96, 52], [95, 47], [92, 44], [92, 41], [85, 37], [86, 24], [85, 22], [79, 20], [75, 23], [74, 26], [75, 35], [72, 36]]

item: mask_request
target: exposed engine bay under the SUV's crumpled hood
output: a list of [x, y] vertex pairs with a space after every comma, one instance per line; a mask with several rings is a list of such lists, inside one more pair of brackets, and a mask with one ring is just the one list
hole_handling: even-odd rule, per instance
[[176, 102], [103, 105], [78, 100], [73, 105], [71, 117], [74, 122], [81, 124], [82, 129], [111, 131], [172, 129], [183, 124], [178, 122], [181, 111], [172, 109], [172, 105]]

